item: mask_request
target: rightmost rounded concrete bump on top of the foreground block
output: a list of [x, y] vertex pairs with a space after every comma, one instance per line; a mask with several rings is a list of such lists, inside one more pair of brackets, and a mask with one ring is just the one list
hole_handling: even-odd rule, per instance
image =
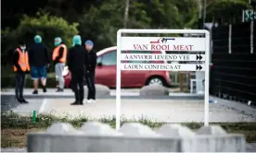
[[221, 126], [210, 125], [210, 126], [202, 126], [198, 129], [197, 135], [225, 135], [226, 132]]

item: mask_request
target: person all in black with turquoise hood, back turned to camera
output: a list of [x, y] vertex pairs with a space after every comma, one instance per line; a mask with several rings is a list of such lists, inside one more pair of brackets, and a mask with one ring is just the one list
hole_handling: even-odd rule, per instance
[[68, 51], [67, 65], [71, 73], [71, 88], [75, 93], [75, 101], [71, 105], [83, 105], [83, 77], [87, 65], [87, 53], [82, 47], [81, 36], [73, 37], [73, 47]]

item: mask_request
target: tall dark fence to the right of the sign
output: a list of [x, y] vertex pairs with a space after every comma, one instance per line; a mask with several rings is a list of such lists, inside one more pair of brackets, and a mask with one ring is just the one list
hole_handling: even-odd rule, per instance
[[254, 22], [246, 22], [212, 29], [211, 94], [255, 104], [254, 27]]

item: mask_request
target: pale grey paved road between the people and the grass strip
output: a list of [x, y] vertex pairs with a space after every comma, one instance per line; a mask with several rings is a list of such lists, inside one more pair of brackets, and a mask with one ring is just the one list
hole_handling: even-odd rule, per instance
[[[95, 116], [101, 116], [102, 114], [108, 112], [109, 114], [114, 114], [114, 107], [115, 107], [115, 97], [114, 95], [104, 98], [99, 98], [97, 100], [96, 104], [86, 104], [83, 107], [70, 107], [70, 102], [72, 102], [71, 95], [70, 97], [63, 97], [60, 95], [56, 96], [53, 95], [52, 97], [47, 98], [47, 96], [37, 96], [33, 97], [28, 93], [25, 92], [27, 95], [28, 100], [30, 101], [30, 104], [19, 104], [16, 100], [14, 100], [13, 95], [8, 94], [1, 94], [1, 111], [5, 112], [8, 110], [12, 110], [13, 112], [19, 112], [20, 114], [28, 114], [32, 113], [32, 111], [37, 112], [49, 112], [55, 110], [58, 113], [62, 113], [63, 110], [66, 110], [67, 112], [83, 112], [88, 111], [92, 115]], [[122, 110], [125, 112], [125, 114], [129, 117], [134, 117], [134, 112], [137, 115], [140, 115], [141, 113], [146, 113], [149, 116], [151, 115], [152, 111], [154, 111], [155, 115], [151, 115], [152, 118], [157, 118], [160, 120], [170, 120], [168, 118], [162, 117], [167, 116], [166, 114], [170, 114], [173, 116], [173, 112], [170, 112], [170, 109], [175, 111], [175, 116], [180, 116], [180, 118], [173, 118], [180, 120], [182, 116], [184, 116], [183, 120], [186, 118], [191, 117], [191, 113], [198, 113], [199, 117], [197, 120], [202, 120], [202, 110], [203, 110], [203, 100], [202, 98], [193, 98], [188, 97], [186, 100], [181, 100], [181, 98], [184, 95], [178, 95], [178, 96], [169, 96], [160, 98], [158, 100], [153, 100], [151, 98], [143, 98], [138, 97], [135, 92], [136, 90], [130, 91], [126, 90], [126, 97], [122, 97]], [[114, 93], [114, 90], [112, 90], [112, 93]], [[65, 93], [70, 94], [70, 93]], [[129, 96], [130, 94], [130, 96]], [[178, 97], [178, 99], [176, 99]], [[217, 103], [211, 103], [210, 104], [210, 117], [214, 120], [221, 118], [228, 118], [229, 122], [236, 122], [234, 119], [239, 121], [249, 121], [249, 122], [255, 122], [256, 121], [256, 110], [255, 108], [252, 108], [246, 104], [238, 103], [236, 101], [230, 101], [230, 100], [221, 100], [218, 98], [211, 97], [211, 100], [217, 101]], [[46, 101], [46, 102], [45, 102]], [[46, 103], [46, 104], [44, 104]], [[71, 108], [71, 109], [70, 109]], [[142, 109], [143, 108], [143, 109]], [[147, 108], [147, 109], [145, 109]], [[152, 110], [153, 108], [153, 110]], [[169, 109], [168, 109], [169, 108]], [[69, 110], [70, 109], [70, 110]], [[100, 111], [94, 111], [100, 110]], [[91, 110], [91, 111], [90, 111]], [[143, 111], [142, 111], [143, 110]], [[159, 110], [159, 111], [155, 111]], [[132, 112], [131, 112], [132, 111]], [[140, 112], [140, 113], [139, 113]], [[181, 115], [177, 115], [183, 114]], [[186, 114], [186, 115], [185, 115]], [[222, 116], [218, 116], [221, 115]], [[171, 118], [172, 119], [172, 118]], [[228, 120], [229, 120], [228, 119]], [[171, 121], [172, 122], [172, 121]], [[226, 121], [225, 121], [226, 122]], [[1, 151], [3, 152], [26, 152], [26, 148], [1, 148]], [[248, 152], [255, 152], [256, 151], [256, 144], [247, 144], [247, 151]]]

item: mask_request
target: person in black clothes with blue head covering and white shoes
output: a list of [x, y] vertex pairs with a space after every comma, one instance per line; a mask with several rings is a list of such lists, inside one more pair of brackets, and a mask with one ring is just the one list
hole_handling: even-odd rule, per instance
[[95, 72], [96, 72], [96, 52], [93, 51], [94, 42], [85, 41], [85, 49], [88, 53], [87, 71], [85, 80], [88, 88], [87, 102], [96, 103], [96, 86], [95, 86]]

